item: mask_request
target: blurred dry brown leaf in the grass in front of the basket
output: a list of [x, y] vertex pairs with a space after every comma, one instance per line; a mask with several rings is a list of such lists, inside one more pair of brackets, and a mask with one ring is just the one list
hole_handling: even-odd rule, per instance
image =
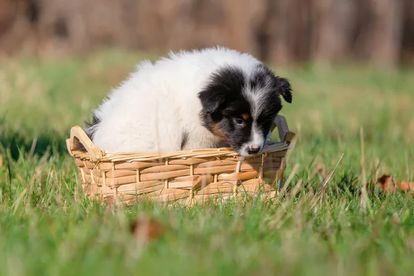
[[130, 233], [139, 241], [152, 241], [166, 233], [166, 228], [155, 219], [139, 217], [130, 223]]

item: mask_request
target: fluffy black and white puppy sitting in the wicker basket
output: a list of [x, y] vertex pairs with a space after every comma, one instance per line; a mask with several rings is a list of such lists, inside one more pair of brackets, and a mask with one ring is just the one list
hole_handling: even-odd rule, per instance
[[170, 52], [110, 92], [86, 133], [107, 152], [164, 152], [231, 146], [262, 151], [290, 83], [228, 48]]

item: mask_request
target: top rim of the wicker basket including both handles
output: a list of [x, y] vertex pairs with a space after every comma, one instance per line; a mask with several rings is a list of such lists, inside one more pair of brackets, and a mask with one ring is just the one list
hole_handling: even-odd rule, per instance
[[[286, 118], [282, 115], [277, 115], [273, 122], [272, 132], [277, 128], [279, 132], [280, 142], [267, 141], [264, 150], [259, 155], [266, 155], [267, 153], [288, 150], [293, 147], [293, 140], [295, 133], [290, 132]], [[74, 145], [80, 142], [85, 151], [74, 150]], [[74, 126], [70, 130], [70, 138], [66, 139], [66, 146], [68, 152], [72, 157], [79, 159], [86, 159], [90, 161], [149, 161], [166, 158], [203, 158], [203, 157], [241, 157], [238, 152], [232, 148], [199, 148], [195, 150], [177, 150], [173, 152], [106, 152], [101, 150], [98, 146], [93, 144], [88, 135], [80, 126]], [[257, 155], [253, 155], [253, 158]], [[249, 157], [244, 157], [249, 159]]]

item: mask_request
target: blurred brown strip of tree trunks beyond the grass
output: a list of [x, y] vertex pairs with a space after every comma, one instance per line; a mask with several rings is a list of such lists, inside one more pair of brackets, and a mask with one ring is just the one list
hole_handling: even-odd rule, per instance
[[414, 1], [0, 0], [0, 52], [6, 56], [216, 44], [279, 66], [412, 64]]

